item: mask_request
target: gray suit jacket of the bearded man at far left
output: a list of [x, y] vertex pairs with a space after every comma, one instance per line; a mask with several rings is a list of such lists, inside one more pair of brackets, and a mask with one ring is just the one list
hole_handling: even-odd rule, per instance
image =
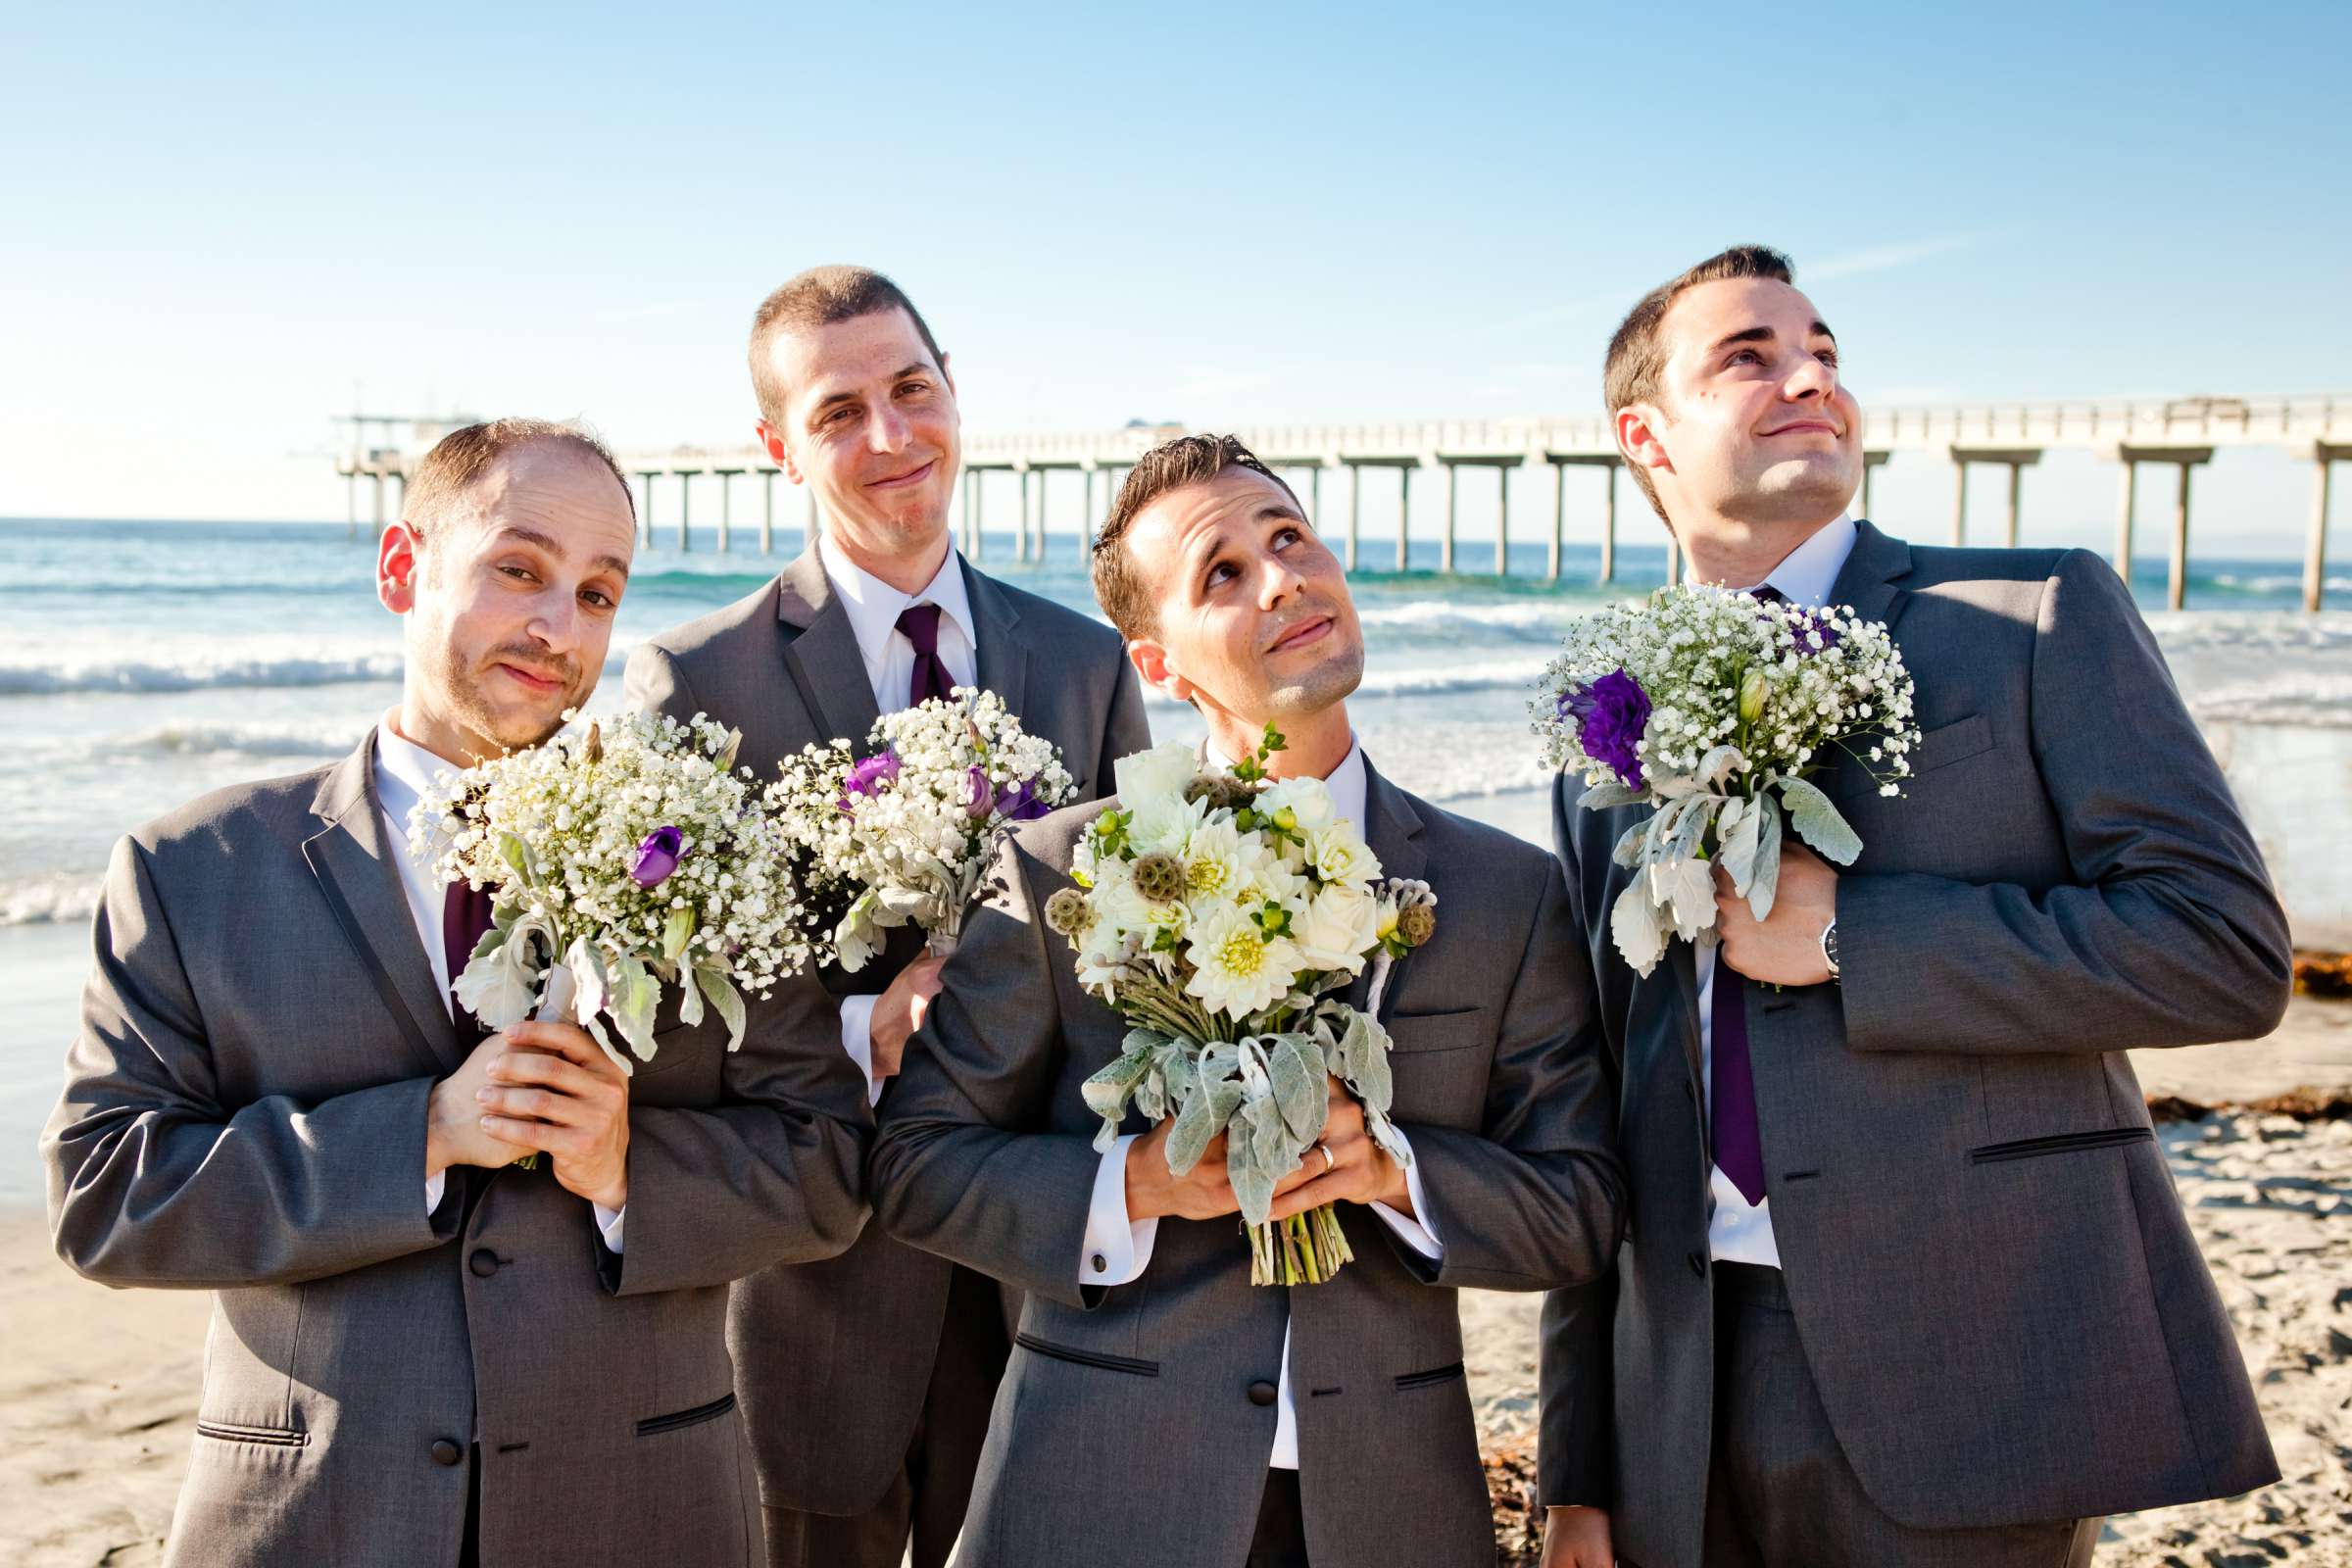
[[42, 1157], [66, 1262], [214, 1291], [167, 1561], [456, 1563], [473, 1441], [487, 1563], [757, 1561], [727, 1281], [849, 1246], [858, 1074], [774, 1001], [736, 1053], [673, 1011], [623, 1255], [546, 1168], [452, 1168], [426, 1215], [426, 1098], [470, 1041], [372, 745], [151, 823], [106, 877]]

